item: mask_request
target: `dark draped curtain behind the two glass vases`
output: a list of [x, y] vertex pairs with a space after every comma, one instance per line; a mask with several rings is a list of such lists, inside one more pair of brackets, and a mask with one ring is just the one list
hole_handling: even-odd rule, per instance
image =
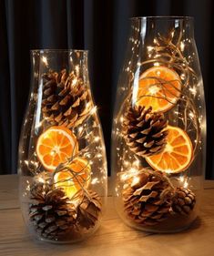
[[[21, 4], [22, 3], [22, 4]], [[111, 118], [128, 18], [192, 15], [208, 118], [207, 179], [214, 179], [213, 0], [0, 0], [0, 174], [16, 173], [17, 145], [30, 86], [30, 49], [90, 51], [90, 77], [109, 160]]]

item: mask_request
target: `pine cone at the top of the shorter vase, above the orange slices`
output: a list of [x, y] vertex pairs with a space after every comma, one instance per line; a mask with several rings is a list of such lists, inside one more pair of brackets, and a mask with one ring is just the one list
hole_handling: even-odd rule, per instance
[[43, 76], [42, 112], [47, 121], [67, 128], [81, 124], [92, 107], [87, 86], [66, 69]]

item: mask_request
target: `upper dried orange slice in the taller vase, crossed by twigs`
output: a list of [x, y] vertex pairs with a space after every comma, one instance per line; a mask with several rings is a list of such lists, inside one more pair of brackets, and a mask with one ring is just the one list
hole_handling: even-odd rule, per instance
[[148, 68], [138, 82], [136, 105], [167, 111], [177, 103], [180, 89], [180, 77], [174, 70], [164, 66]]

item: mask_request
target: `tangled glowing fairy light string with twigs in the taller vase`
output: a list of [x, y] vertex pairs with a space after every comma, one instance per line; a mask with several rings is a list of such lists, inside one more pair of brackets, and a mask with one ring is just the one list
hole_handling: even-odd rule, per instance
[[[179, 29], [178, 39], [176, 43], [173, 42], [175, 40], [176, 30], [173, 29], [171, 32], [169, 32], [168, 35], [168, 38], [166, 38], [158, 34], [158, 36], [153, 41], [154, 45], [147, 47], [148, 59], [142, 62], [138, 61], [138, 68], [140, 67], [140, 70], [147, 70], [148, 67], [151, 66], [165, 66], [172, 68], [178, 73], [180, 80], [165, 80], [160, 77], [149, 76], [140, 78], [151, 79], [152, 81], [155, 81], [155, 83], [149, 84], [149, 87], [159, 87], [163, 92], [162, 97], [153, 94], [147, 94], [138, 97], [137, 101], [133, 102], [132, 97], [134, 79], [135, 76], [140, 77], [140, 74], [135, 74], [136, 69], [130, 68], [132, 66], [132, 62], [128, 62], [128, 65], [130, 67], [125, 69], [128, 75], [130, 75], [129, 77], [131, 78], [129, 79], [129, 81], [127, 81], [127, 91], [124, 89], [124, 95], [126, 93], [127, 96], [124, 97], [124, 101], [121, 104], [120, 109], [118, 110], [117, 118], [115, 120], [116, 132], [114, 134], [114, 137], [117, 139], [118, 150], [122, 150], [121, 153], [119, 153], [119, 151], [117, 153], [119, 156], [119, 166], [122, 172], [132, 169], [134, 159], [138, 159], [138, 157], [128, 151], [126, 143], [124, 143], [123, 134], [121, 132], [121, 129], [123, 128], [123, 115], [126, 115], [126, 109], [130, 106], [130, 103], [132, 103], [132, 105], [135, 105], [142, 97], [154, 97], [164, 99], [168, 103], [172, 104], [174, 107], [177, 105], [178, 109], [172, 108], [169, 111], [170, 113], [174, 113], [173, 115], [175, 115], [175, 117], [178, 117], [178, 121], [181, 122], [183, 129], [188, 134], [191, 133], [191, 138], [193, 138], [192, 161], [196, 158], [199, 152], [199, 145], [201, 143], [201, 123], [199, 118], [199, 111], [196, 108], [194, 102], [194, 97], [196, 97], [196, 87], [199, 83], [199, 80], [196, 72], [192, 67], [190, 67], [189, 61], [186, 59], [185, 56], [183, 56], [182, 53], [185, 48], [185, 43], [183, 42], [184, 40], [182, 41], [183, 30]], [[134, 52], [134, 49], [133, 55], [136, 54], [136, 52]], [[180, 89], [174, 86], [175, 82], [180, 83]], [[166, 85], [170, 85], [170, 87], [172, 87], [174, 91], [178, 91], [179, 96], [175, 95], [171, 90], [168, 90], [168, 87], [166, 87]], [[174, 98], [177, 97], [176, 102], [170, 100], [170, 98], [168, 98], [168, 95]], [[181, 109], [183, 109], [183, 114], [181, 113]], [[128, 161], [128, 159], [132, 159], [131, 163]], [[140, 159], [139, 162], [141, 162]], [[187, 170], [187, 173], [188, 171], [189, 170]]]

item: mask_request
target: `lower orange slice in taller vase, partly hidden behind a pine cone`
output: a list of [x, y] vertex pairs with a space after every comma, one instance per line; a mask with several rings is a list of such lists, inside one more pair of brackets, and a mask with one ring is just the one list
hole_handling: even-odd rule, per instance
[[192, 143], [188, 134], [181, 128], [168, 126], [167, 145], [164, 151], [146, 160], [154, 169], [178, 173], [189, 167], [192, 154]]

